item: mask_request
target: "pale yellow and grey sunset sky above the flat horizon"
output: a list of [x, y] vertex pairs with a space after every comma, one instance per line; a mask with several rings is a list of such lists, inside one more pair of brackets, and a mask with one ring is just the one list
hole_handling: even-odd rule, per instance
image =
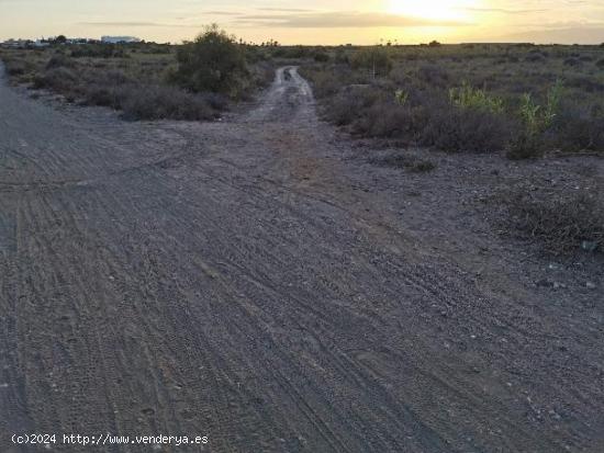
[[217, 23], [282, 44], [604, 43], [604, 0], [0, 0], [0, 39], [128, 35], [179, 43]]

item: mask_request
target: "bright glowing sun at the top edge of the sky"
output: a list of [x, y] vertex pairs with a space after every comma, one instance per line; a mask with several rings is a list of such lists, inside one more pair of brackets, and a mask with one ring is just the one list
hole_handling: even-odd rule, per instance
[[388, 0], [388, 12], [430, 20], [462, 20], [472, 0]]

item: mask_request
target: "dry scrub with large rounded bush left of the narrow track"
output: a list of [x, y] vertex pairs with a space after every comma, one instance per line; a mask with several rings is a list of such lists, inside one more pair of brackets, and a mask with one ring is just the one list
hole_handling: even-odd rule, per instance
[[109, 106], [126, 120], [212, 120], [272, 79], [253, 47], [213, 25], [180, 46], [55, 43], [0, 57], [14, 83]]

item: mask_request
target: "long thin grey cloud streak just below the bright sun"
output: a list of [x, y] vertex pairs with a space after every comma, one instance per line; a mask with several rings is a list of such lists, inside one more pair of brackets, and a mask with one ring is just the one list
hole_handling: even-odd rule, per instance
[[401, 26], [461, 26], [459, 21], [437, 21], [380, 12], [307, 12], [287, 14], [246, 14], [236, 22], [243, 25], [286, 29], [367, 29]]

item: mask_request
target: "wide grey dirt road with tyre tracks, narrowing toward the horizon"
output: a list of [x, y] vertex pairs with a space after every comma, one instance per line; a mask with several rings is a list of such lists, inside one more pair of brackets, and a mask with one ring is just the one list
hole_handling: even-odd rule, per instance
[[[2, 82], [0, 152], [2, 452], [37, 451], [21, 432], [604, 451], [602, 307], [562, 313], [435, 252], [358, 183], [293, 68], [212, 124]], [[90, 450], [150, 451], [52, 446]]]

